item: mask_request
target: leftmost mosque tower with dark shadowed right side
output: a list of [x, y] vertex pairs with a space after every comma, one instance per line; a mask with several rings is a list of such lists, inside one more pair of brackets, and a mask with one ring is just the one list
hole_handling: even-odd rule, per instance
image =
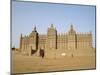
[[29, 37], [30, 37], [29, 44], [31, 48], [34, 50], [37, 50], [38, 49], [38, 32], [36, 30], [36, 26], [34, 27]]

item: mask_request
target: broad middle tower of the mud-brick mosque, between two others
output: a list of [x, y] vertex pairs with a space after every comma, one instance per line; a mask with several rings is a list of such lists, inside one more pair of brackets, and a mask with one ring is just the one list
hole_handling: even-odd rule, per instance
[[54, 28], [53, 24], [48, 28], [47, 31], [47, 48], [56, 49], [57, 48], [57, 30]]

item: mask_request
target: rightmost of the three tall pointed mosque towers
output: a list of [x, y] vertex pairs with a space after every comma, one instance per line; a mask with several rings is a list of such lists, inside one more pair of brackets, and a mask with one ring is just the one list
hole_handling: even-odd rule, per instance
[[68, 32], [68, 49], [72, 50], [72, 49], [76, 49], [77, 45], [76, 45], [76, 32], [73, 28], [73, 25], [71, 25], [70, 30]]

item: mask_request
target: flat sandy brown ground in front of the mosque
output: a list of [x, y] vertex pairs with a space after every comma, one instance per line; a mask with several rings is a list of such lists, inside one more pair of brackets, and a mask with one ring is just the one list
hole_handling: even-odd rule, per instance
[[95, 56], [40, 58], [12, 54], [12, 73], [95, 69]]

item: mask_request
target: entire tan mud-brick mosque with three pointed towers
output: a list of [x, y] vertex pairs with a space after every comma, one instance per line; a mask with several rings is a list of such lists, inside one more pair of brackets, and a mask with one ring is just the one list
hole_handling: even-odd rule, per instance
[[92, 33], [77, 33], [73, 27], [64, 34], [57, 34], [56, 28], [51, 24], [47, 34], [41, 35], [36, 27], [28, 36], [20, 36], [20, 53], [28, 56], [65, 57], [90, 56], [95, 54], [92, 46]]

